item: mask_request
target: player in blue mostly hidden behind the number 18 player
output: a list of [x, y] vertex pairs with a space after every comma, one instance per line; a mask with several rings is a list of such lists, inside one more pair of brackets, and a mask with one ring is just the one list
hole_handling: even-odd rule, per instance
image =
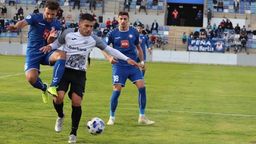
[[[151, 48], [150, 48], [150, 45], [149, 45], [149, 40], [148, 40], [148, 37], [146, 35], [142, 34], [142, 30], [143, 30], [142, 24], [138, 25], [137, 30], [139, 32], [139, 38], [140, 38], [139, 43], [140, 43], [140, 46], [141, 46], [141, 49], [142, 49], [142, 52], [143, 52], [143, 61], [144, 61], [144, 63], [146, 63], [146, 47], [149, 49], [148, 50], [149, 54], [152, 54]], [[135, 50], [135, 53], [137, 54], [137, 50]], [[139, 57], [137, 57], [136, 62], [139, 62], [139, 61], [140, 61]], [[141, 73], [142, 73], [142, 76], [144, 78], [145, 71], [141, 70]], [[144, 81], [144, 83], [146, 83], [146, 81]]]

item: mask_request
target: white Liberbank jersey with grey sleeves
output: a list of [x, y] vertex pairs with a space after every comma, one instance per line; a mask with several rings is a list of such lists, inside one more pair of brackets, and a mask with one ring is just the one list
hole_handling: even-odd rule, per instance
[[95, 34], [83, 36], [79, 29], [68, 28], [61, 33], [58, 39], [60, 44], [64, 44], [63, 51], [66, 53], [66, 68], [79, 71], [86, 71], [87, 57], [93, 47], [104, 50], [107, 45]]

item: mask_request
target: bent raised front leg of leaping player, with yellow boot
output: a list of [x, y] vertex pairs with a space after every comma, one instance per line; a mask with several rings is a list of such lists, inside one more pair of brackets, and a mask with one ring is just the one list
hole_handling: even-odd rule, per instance
[[48, 62], [50, 66], [54, 65], [53, 79], [51, 82], [51, 86], [48, 88], [47, 92], [49, 92], [49, 94], [54, 97], [58, 97], [56, 87], [60, 82], [65, 70], [66, 54], [61, 50], [51, 51], [46, 56], [46, 61], [44, 62]]

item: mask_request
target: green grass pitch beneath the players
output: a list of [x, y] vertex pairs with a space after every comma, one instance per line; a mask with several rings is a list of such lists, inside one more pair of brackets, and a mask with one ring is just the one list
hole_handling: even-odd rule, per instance
[[[24, 75], [23, 56], [0, 56], [0, 144], [63, 144], [71, 130], [71, 100], [64, 99], [63, 130], [55, 132], [57, 113]], [[256, 143], [256, 68], [147, 62], [146, 116], [138, 123], [138, 91], [127, 80], [114, 126], [91, 135], [90, 118], [108, 121], [112, 68], [91, 60], [87, 70], [77, 142], [79, 144], [252, 144]], [[50, 66], [41, 66], [41, 70]], [[17, 75], [15, 75], [17, 74]], [[11, 75], [11, 76], [8, 76]], [[7, 77], [5, 77], [7, 76]], [[52, 70], [42, 71], [51, 83]], [[238, 114], [239, 116], [235, 116]]]

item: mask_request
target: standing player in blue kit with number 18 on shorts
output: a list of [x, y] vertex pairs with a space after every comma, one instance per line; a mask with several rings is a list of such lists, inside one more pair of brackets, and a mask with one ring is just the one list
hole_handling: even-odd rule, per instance
[[[134, 52], [135, 49], [138, 51], [138, 57], [141, 61], [141, 68], [143, 71], [146, 70], [146, 66], [143, 61], [143, 52], [140, 46], [139, 33], [132, 27], [128, 26], [129, 14], [126, 11], [121, 11], [118, 14], [119, 26], [111, 30], [105, 39], [105, 43], [110, 45], [112, 43], [113, 48], [119, 50], [127, 57], [136, 60], [137, 54]], [[110, 119], [107, 122], [107, 125], [114, 125], [115, 123], [115, 110], [118, 104], [118, 97], [120, 95], [122, 87], [125, 86], [127, 78], [134, 83], [139, 90], [139, 123], [146, 123], [148, 125], [154, 124], [154, 121], [151, 121], [145, 116], [145, 107], [146, 107], [146, 87], [144, 86], [144, 78], [141, 74], [141, 71], [127, 64], [126, 61], [121, 59], [114, 59], [110, 57], [105, 52], [102, 52], [105, 57], [114, 64], [112, 66], [112, 79], [113, 79], [113, 94], [110, 99]], [[118, 63], [117, 63], [118, 61]]]

